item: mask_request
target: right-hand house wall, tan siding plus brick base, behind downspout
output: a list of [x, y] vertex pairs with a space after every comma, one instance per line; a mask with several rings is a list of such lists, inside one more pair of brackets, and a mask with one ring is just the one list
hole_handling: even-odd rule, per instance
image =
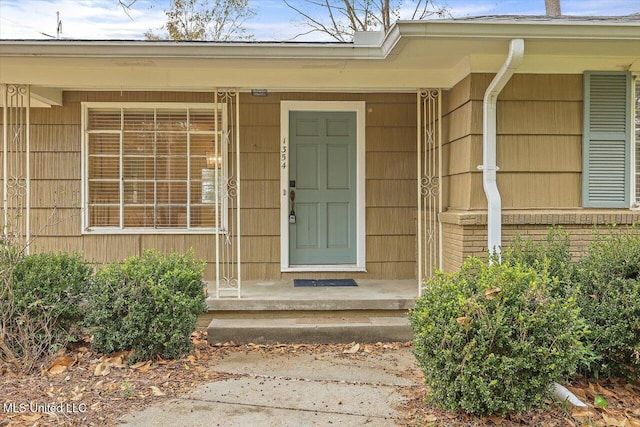
[[[444, 270], [487, 254], [486, 198], [482, 187], [482, 100], [493, 75], [472, 74], [446, 95], [443, 153], [449, 185], [442, 215]], [[560, 225], [574, 256], [594, 227], [633, 224], [628, 209], [582, 208], [582, 75], [516, 74], [498, 97], [497, 165], [502, 239], [533, 240]]]

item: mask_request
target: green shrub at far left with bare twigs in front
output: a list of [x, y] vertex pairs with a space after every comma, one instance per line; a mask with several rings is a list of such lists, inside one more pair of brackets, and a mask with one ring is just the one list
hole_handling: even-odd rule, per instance
[[92, 270], [80, 255], [0, 249], [0, 364], [29, 373], [79, 333]]

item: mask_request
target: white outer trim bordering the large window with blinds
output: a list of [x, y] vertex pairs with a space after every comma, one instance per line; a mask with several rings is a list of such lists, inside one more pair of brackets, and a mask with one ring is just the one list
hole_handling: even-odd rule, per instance
[[[80, 182], [80, 194], [81, 194], [81, 233], [83, 235], [105, 235], [105, 234], [226, 234], [226, 228], [228, 224], [228, 209], [227, 201], [223, 199], [222, 203], [222, 228], [216, 227], [193, 227], [193, 228], [125, 228], [125, 227], [93, 227], [89, 228], [89, 150], [88, 150], [88, 138], [89, 135], [87, 126], [90, 109], [99, 108], [131, 108], [131, 109], [162, 109], [162, 108], [184, 108], [184, 109], [210, 109], [216, 110], [215, 103], [189, 103], [189, 102], [82, 102], [81, 103], [81, 123], [82, 123], [82, 135], [81, 135], [81, 182]], [[228, 127], [226, 104], [218, 104], [217, 109], [221, 110], [223, 117], [223, 131]], [[221, 143], [222, 141], [220, 141]], [[189, 154], [188, 148], [188, 157]], [[226, 158], [226, 148], [222, 147], [222, 156]], [[122, 154], [119, 155], [122, 160]], [[227, 163], [223, 163], [223, 174], [226, 176]], [[189, 202], [189, 201], [188, 201]], [[122, 209], [123, 201], [120, 200], [120, 209]]]

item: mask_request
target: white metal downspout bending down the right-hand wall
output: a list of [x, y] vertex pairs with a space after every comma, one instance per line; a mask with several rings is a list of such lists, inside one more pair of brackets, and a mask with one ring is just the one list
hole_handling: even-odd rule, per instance
[[498, 95], [522, 63], [524, 40], [513, 39], [509, 56], [493, 78], [484, 94], [482, 123], [482, 186], [487, 196], [487, 247], [489, 254], [500, 257], [502, 246], [502, 201], [496, 181], [496, 105]]

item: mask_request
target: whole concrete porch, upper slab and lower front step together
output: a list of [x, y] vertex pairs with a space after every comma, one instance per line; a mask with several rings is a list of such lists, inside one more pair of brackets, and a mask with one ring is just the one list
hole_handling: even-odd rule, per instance
[[[294, 287], [293, 280], [247, 281], [241, 298], [207, 298], [200, 316], [211, 343], [409, 341], [406, 316], [415, 280], [357, 280], [358, 286]], [[209, 284], [215, 296], [215, 284]]]

